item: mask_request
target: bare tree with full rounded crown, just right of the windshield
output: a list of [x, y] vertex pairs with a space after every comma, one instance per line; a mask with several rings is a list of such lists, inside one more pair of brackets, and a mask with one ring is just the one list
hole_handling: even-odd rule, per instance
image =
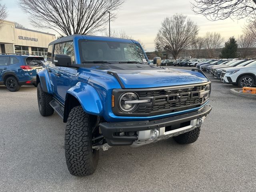
[[174, 59], [188, 47], [198, 34], [198, 26], [182, 14], [166, 17], [155, 39]]

